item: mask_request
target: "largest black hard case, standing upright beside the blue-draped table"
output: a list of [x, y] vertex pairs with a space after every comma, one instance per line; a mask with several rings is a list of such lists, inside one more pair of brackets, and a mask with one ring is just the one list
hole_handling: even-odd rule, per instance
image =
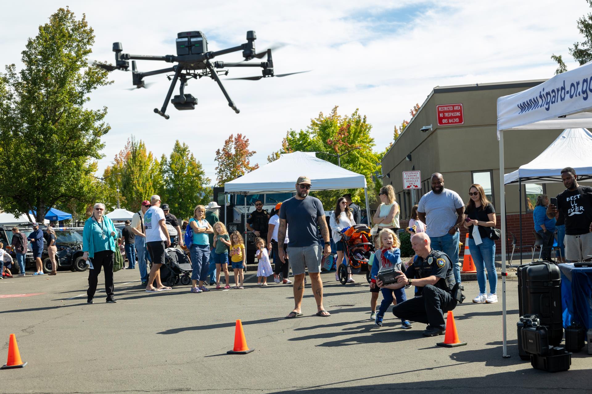
[[520, 316], [537, 315], [547, 328], [549, 344], [557, 346], [563, 338], [559, 267], [538, 261], [519, 266], [517, 273]]

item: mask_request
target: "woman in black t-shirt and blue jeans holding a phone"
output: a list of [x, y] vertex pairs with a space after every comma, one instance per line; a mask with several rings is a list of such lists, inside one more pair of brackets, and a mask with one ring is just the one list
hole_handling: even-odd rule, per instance
[[[496, 242], [491, 239], [491, 232], [493, 227], [496, 227], [496, 210], [487, 200], [480, 184], [471, 185], [469, 197], [471, 200], [466, 204], [464, 226], [469, 232], [469, 250], [477, 269], [479, 285], [479, 295], [473, 299], [473, 302], [493, 304], [497, 302], [497, 272]], [[489, 294], [485, 294], [485, 269], [487, 269], [489, 280]]]

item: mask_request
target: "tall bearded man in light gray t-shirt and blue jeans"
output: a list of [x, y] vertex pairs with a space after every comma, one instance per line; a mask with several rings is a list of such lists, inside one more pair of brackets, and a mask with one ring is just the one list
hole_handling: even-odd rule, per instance
[[432, 249], [448, 255], [454, 279], [456, 283], [461, 283], [458, 242], [459, 226], [465, 217], [465, 204], [456, 191], [444, 188], [444, 178], [439, 172], [432, 174], [432, 191], [420, 198], [417, 216], [426, 223], [426, 234], [432, 240]]

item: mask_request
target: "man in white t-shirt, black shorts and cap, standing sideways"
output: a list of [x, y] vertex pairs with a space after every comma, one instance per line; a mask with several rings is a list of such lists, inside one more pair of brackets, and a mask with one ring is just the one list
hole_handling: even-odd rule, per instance
[[[170, 246], [169, 231], [166, 229], [165, 213], [160, 209], [160, 196], [156, 194], [150, 198], [152, 206], [144, 213], [144, 233], [146, 245], [152, 258], [152, 269], [148, 277], [146, 292], [170, 290], [160, 281], [160, 266], [165, 263], [165, 248]], [[156, 287], [153, 286], [156, 279]]]

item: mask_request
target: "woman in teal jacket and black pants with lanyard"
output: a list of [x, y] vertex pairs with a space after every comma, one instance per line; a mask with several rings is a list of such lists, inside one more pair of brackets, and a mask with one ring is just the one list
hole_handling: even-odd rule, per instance
[[117, 248], [117, 230], [107, 216], [104, 216], [105, 204], [97, 203], [93, 208], [93, 214], [86, 219], [82, 232], [84, 252], [83, 259], [89, 262], [88, 290], [86, 291], [88, 304], [92, 304], [95, 297], [96, 284], [98, 282], [101, 266], [105, 270], [105, 292], [107, 303], [114, 304], [113, 294], [113, 262], [115, 248]]

